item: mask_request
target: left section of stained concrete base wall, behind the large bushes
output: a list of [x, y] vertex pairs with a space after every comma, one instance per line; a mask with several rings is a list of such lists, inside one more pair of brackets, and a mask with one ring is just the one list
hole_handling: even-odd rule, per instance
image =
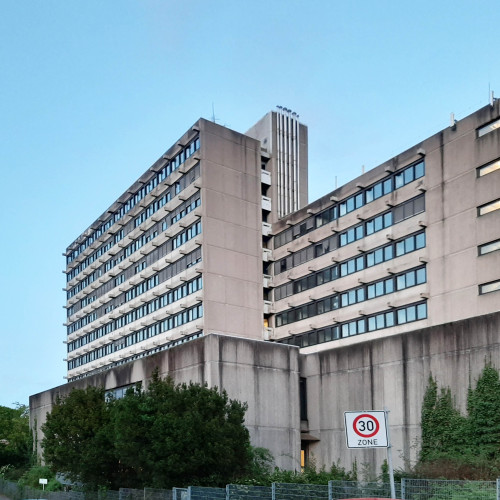
[[300, 465], [299, 351], [296, 347], [223, 335], [207, 335], [101, 374], [30, 397], [32, 428], [41, 425], [58, 395], [88, 385], [114, 389], [145, 382], [158, 367], [178, 383], [207, 383], [248, 403], [245, 424], [254, 446], [273, 453], [276, 465]]

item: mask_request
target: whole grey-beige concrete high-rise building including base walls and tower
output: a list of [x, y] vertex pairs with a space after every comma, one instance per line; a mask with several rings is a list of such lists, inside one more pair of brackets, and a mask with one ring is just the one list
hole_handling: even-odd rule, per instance
[[277, 465], [378, 467], [343, 412], [391, 409], [413, 460], [428, 377], [500, 368], [500, 106], [307, 203], [307, 127], [200, 119], [67, 249], [69, 383], [119, 395], [155, 366], [247, 401]]

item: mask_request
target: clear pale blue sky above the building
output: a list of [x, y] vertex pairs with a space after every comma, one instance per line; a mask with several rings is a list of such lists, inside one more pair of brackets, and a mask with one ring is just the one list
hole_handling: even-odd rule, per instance
[[309, 200], [500, 96], [482, 0], [3, 0], [0, 405], [65, 383], [66, 247], [199, 117], [309, 127]]

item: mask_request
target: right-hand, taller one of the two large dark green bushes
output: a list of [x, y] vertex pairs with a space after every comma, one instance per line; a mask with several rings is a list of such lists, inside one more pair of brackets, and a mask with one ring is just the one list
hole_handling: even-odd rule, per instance
[[175, 385], [155, 371], [147, 390], [130, 390], [116, 402], [117, 456], [136, 484], [226, 484], [251, 465], [246, 409], [225, 391]]

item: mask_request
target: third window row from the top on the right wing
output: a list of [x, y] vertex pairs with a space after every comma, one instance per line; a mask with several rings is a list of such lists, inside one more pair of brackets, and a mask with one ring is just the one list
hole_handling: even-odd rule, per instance
[[329, 283], [348, 274], [375, 266], [425, 247], [425, 232], [420, 231], [400, 240], [387, 243], [358, 257], [321, 269], [303, 278], [284, 283], [274, 289], [274, 300], [282, 300], [296, 293]]

